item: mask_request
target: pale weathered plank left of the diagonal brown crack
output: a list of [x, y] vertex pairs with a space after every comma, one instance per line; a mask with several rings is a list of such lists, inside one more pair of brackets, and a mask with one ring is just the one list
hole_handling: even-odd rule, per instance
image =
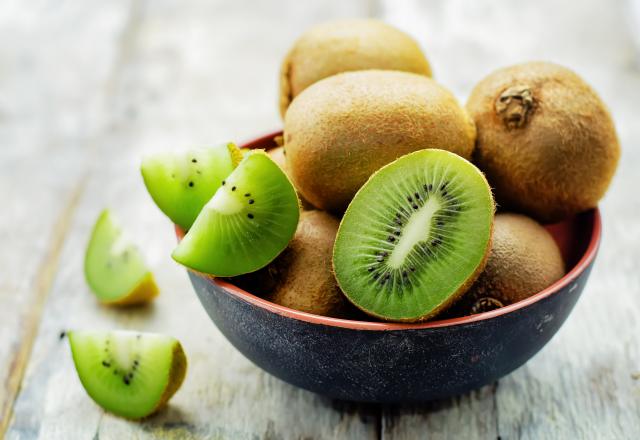
[[122, 21], [116, 3], [101, 15], [50, 6], [0, 4], [0, 437], [83, 190], [95, 91]]

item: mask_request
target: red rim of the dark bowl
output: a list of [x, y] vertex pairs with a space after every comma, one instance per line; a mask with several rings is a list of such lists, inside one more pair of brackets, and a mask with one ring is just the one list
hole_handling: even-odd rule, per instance
[[[279, 134], [281, 134], [281, 132], [270, 133], [268, 135], [255, 138], [251, 141], [244, 143], [242, 147], [254, 148], [256, 146], [262, 145], [264, 142], [268, 140], [273, 139], [274, 136], [277, 136]], [[179, 239], [181, 239], [184, 235], [184, 232], [178, 226], [176, 226], [176, 235], [178, 236]], [[496, 310], [491, 310], [489, 312], [478, 313], [476, 315], [463, 316], [460, 318], [444, 319], [440, 321], [428, 321], [428, 322], [417, 323], [417, 324], [356, 321], [352, 319], [331, 318], [327, 316], [313, 315], [311, 313], [301, 312], [299, 310], [290, 309], [288, 307], [284, 307], [284, 306], [280, 306], [278, 304], [272, 303], [263, 298], [255, 296], [243, 289], [240, 289], [239, 287], [227, 281], [215, 279], [210, 275], [199, 273], [197, 271], [193, 271], [188, 268], [187, 270], [191, 270], [197, 275], [207, 278], [211, 283], [224, 288], [230, 294], [234, 295], [235, 297], [249, 304], [260, 307], [272, 313], [277, 313], [278, 315], [282, 315], [292, 319], [297, 319], [300, 321], [309, 322], [311, 324], [329, 325], [332, 327], [341, 327], [341, 328], [348, 328], [353, 330], [419, 330], [419, 329], [427, 329], [427, 328], [438, 328], [438, 327], [448, 327], [448, 326], [461, 325], [461, 324], [470, 324], [473, 322], [484, 321], [486, 319], [495, 318], [497, 316], [506, 315], [507, 313], [520, 310], [550, 295], [553, 295], [554, 293], [559, 292], [564, 287], [574, 282], [578, 278], [578, 276], [582, 272], [584, 272], [584, 270], [591, 264], [591, 262], [596, 256], [596, 251], [598, 249], [598, 245], [600, 244], [601, 235], [602, 235], [602, 223], [600, 219], [600, 210], [598, 208], [595, 208], [593, 210], [593, 229], [591, 230], [591, 237], [589, 239], [589, 246], [587, 247], [587, 250], [580, 258], [580, 261], [578, 261], [578, 263], [564, 277], [560, 278], [551, 286], [536, 293], [535, 295], [531, 295], [530, 297], [523, 299], [522, 301], [518, 301], [517, 303], [511, 304]]]

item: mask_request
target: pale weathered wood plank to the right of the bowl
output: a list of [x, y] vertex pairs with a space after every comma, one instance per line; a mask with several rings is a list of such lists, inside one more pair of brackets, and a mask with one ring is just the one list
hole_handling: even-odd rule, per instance
[[599, 0], [383, 2], [383, 17], [424, 44], [437, 79], [461, 99], [501, 66], [548, 59], [574, 68], [611, 107], [624, 150], [601, 206], [598, 260], [558, 335], [495, 388], [386, 411], [384, 438], [640, 437], [640, 73], [632, 67], [625, 7]]

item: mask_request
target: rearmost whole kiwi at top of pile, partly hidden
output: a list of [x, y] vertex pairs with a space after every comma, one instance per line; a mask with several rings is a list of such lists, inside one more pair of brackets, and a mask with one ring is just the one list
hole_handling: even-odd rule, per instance
[[308, 29], [287, 53], [280, 69], [280, 114], [311, 84], [354, 70], [400, 70], [431, 76], [418, 43], [404, 32], [372, 19], [338, 20]]

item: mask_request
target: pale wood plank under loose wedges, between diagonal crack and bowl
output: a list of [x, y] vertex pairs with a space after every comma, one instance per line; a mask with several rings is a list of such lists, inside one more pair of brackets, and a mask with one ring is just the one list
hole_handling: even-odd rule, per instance
[[[363, 15], [367, 2], [304, 5], [294, 0], [135, 3], [118, 65], [91, 132], [96, 150], [45, 305], [10, 439], [373, 438], [376, 407], [332, 402], [267, 375], [238, 353], [201, 308], [169, 255], [172, 228], [146, 195], [143, 152], [242, 139], [277, 127], [281, 56], [304, 28], [336, 15]], [[100, 56], [99, 51], [95, 54]], [[96, 216], [110, 206], [148, 255], [162, 290], [134, 309], [96, 304], [82, 259]], [[189, 357], [183, 388], [144, 422], [104, 414], [82, 389], [69, 328], [131, 328], [179, 338]]]

